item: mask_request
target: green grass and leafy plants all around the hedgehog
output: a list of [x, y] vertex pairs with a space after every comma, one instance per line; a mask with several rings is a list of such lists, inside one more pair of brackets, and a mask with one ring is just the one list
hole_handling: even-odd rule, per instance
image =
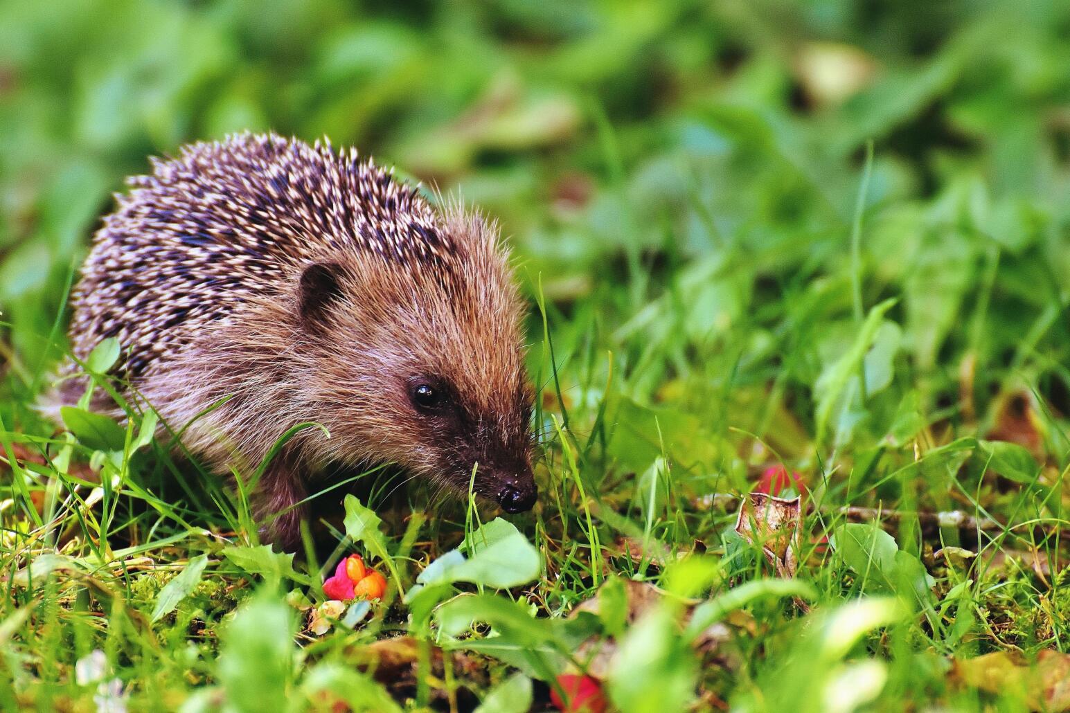
[[[571, 670], [625, 711], [1070, 707], [1067, 3], [0, 18], [5, 710], [546, 710]], [[246, 128], [355, 143], [511, 236], [541, 434], [517, 531], [352, 474], [337, 546], [291, 559], [140, 416], [36, 415], [110, 193]], [[808, 490], [786, 569], [747, 537], [767, 509], [736, 531], [780, 465]], [[350, 552], [388, 604], [315, 634]]]

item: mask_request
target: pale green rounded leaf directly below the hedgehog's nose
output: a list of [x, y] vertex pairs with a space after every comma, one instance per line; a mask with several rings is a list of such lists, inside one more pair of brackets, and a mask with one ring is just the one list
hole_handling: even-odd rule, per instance
[[495, 589], [519, 587], [538, 577], [541, 557], [516, 525], [495, 517], [470, 539], [472, 553], [464, 547], [447, 552], [431, 562], [416, 578], [422, 585], [470, 582]]

